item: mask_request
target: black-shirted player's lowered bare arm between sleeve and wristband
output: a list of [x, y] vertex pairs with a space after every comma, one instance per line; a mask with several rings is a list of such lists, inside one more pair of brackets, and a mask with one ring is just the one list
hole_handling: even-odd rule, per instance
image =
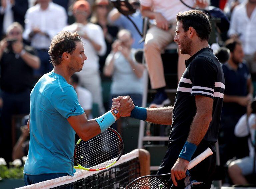
[[212, 120], [213, 99], [205, 96], [196, 96], [195, 98], [197, 110], [190, 126], [187, 141], [198, 146]]

